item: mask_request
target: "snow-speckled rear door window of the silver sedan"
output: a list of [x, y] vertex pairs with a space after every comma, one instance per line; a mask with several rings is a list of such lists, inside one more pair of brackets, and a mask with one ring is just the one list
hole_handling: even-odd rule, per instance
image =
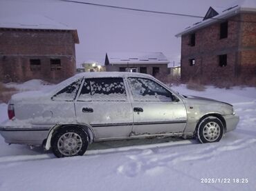
[[84, 81], [77, 101], [126, 101], [122, 78], [98, 78]]

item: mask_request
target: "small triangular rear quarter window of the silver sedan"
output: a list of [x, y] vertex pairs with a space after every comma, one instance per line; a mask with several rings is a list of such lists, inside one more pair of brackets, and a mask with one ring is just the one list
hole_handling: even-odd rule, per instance
[[73, 101], [77, 94], [77, 90], [80, 88], [81, 81], [82, 79], [74, 81], [69, 86], [66, 86], [66, 88], [60, 90], [60, 92], [57, 92], [51, 99], [53, 101]]

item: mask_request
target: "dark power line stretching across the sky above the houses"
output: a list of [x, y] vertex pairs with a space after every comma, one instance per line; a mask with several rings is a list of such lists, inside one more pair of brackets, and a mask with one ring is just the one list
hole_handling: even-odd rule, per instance
[[[120, 10], [131, 10], [131, 11], [138, 11], [138, 12], [149, 12], [154, 14], [167, 14], [167, 15], [174, 15], [174, 16], [180, 16], [180, 17], [193, 17], [193, 18], [199, 18], [204, 19], [202, 16], [192, 15], [192, 14], [181, 14], [181, 13], [175, 13], [175, 12], [162, 12], [162, 11], [155, 11], [155, 10], [143, 10], [143, 9], [137, 9], [137, 8], [126, 8], [126, 7], [120, 7], [120, 6], [109, 6], [109, 5], [103, 5], [98, 3], [89, 3], [89, 2], [82, 2], [82, 1], [71, 1], [71, 0], [59, 0], [59, 1], [65, 1], [69, 3], [80, 3], [85, 4], [89, 6], [99, 6], [104, 8], [115, 8]], [[210, 18], [212, 20], [217, 21], [226, 21], [227, 19], [219, 19], [219, 18]], [[233, 20], [228, 19], [229, 21], [239, 22], [239, 23], [256, 23], [256, 21], [242, 21], [242, 20]]]

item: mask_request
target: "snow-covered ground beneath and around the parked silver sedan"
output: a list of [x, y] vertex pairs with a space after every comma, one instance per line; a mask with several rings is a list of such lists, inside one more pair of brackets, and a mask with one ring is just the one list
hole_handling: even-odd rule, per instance
[[[64, 159], [41, 148], [7, 145], [0, 137], [0, 190], [256, 190], [256, 88], [172, 88], [232, 103], [240, 116], [237, 129], [219, 143], [170, 138], [93, 143], [83, 157]], [[0, 103], [0, 122], [6, 110]], [[205, 179], [217, 182], [201, 183]]]

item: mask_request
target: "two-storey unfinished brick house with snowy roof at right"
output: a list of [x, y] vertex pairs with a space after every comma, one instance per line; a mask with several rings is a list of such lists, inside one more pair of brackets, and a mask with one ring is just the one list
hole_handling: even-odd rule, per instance
[[256, 1], [210, 7], [181, 37], [181, 80], [204, 83], [256, 79]]

